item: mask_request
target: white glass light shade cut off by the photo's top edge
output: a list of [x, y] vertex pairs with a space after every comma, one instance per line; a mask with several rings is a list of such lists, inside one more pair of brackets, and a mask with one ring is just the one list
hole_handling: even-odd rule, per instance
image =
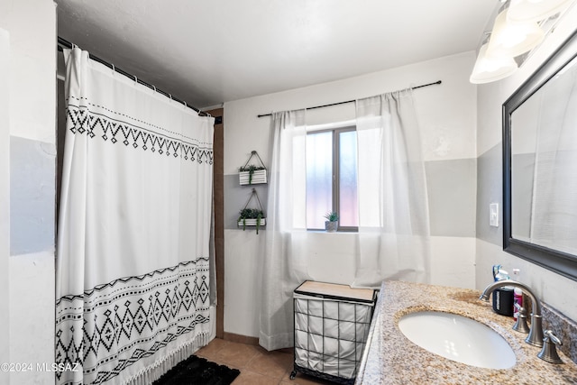
[[539, 22], [563, 12], [574, 0], [510, 0], [507, 19], [510, 22]]

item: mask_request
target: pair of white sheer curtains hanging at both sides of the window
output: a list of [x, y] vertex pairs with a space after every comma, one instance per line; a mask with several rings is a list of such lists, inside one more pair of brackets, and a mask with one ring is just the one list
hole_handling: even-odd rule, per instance
[[[412, 92], [358, 100], [356, 114], [359, 233], [349, 283], [379, 288], [382, 280], [427, 282], [426, 175]], [[305, 111], [272, 115], [260, 333], [261, 346], [269, 350], [292, 346], [293, 290], [311, 279], [305, 120]]]

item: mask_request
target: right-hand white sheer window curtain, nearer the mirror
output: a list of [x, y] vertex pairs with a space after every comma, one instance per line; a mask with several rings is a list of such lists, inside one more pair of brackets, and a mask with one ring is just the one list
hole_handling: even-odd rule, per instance
[[425, 164], [410, 89], [357, 101], [359, 242], [354, 287], [429, 280]]

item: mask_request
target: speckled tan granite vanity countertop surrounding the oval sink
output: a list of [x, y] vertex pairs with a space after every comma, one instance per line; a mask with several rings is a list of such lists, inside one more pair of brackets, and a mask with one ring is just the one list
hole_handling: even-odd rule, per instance
[[[494, 313], [479, 300], [481, 291], [400, 281], [385, 281], [371, 322], [356, 385], [377, 384], [575, 384], [577, 364], [559, 350], [563, 364], [537, 358], [541, 348], [511, 327], [512, 317]], [[503, 336], [517, 356], [510, 369], [485, 369], [454, 362], [413, 344], [398, 329], [398, 319], [422, 310], [468, 316]]]

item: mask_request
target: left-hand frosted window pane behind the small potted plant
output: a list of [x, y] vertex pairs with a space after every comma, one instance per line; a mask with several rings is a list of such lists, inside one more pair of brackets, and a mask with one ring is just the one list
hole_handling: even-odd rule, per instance
[[333, 209], [333, 133], [307, 135], [307, 228], [324, 229]]

